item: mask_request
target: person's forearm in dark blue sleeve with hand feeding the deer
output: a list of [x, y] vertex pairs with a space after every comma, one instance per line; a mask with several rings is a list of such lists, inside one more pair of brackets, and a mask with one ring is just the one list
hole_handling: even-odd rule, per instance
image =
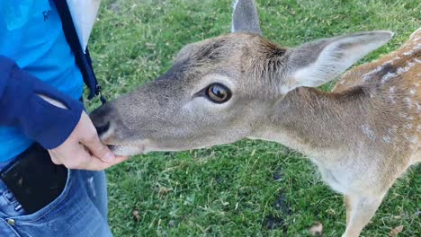
[[49, 150], [51, 160], [71, 169], [103, 170], [128, 157], [103, 145], [80, 101], [24, 72], [0, 56], [0, 125], [23, 133]]

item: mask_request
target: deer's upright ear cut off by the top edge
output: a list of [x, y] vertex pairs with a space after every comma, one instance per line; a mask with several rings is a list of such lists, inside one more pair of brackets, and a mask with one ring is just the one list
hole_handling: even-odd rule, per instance
[[231, 32], [262, 34], [255, 0], [236, 0], [233, 8]]

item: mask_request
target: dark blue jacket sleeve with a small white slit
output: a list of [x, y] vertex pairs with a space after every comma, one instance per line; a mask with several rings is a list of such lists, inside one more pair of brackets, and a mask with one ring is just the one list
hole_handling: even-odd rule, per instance
[[[58, 108], [40, 95], [62, 102]], [[0, 125], [19, 127], [46, 149], [61, 145], [76, 127], [84, 106], [0, 56]]]

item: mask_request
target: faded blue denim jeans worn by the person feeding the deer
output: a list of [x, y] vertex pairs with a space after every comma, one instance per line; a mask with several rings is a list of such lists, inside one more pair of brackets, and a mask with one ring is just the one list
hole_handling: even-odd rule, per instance
[[25, 215], [0, 180], [0, 236], [107, 237], [107, 187], [103, 171], [68, 171], [63, 192], [49, 205]]

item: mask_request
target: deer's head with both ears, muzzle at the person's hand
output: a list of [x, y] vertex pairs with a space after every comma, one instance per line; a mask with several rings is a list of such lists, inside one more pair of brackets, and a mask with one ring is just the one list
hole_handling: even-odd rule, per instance
[[253, 0], [234, 7], [231, 33], [186, 45], [156, 81], [94, 110], [94, 125], [115, 154], [255, 137], [286, 94], [329, 82], [391, 37], [360, 32], [282, 48], [261, 36]]

